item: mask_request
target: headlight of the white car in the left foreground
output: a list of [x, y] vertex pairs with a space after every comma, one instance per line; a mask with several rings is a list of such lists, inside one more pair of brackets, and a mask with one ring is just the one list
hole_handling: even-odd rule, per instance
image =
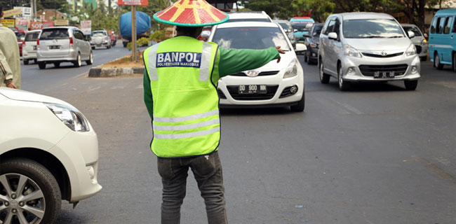
[[64, 106], [60, 104], [46, 104], [55, 116], [57, 116], [62, 123], [67, 125], [69, 129], [74, 132], [88, 132], [90, 130], [86, 117], [75, 108]]

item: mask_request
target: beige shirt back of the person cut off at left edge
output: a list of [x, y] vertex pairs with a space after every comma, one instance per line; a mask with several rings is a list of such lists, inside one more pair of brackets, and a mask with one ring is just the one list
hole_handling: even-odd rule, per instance
[[[5, 57], [11, 72], [13, 73], [13, 83], [20, 88], [20, 55], [18, 40], [14, 32], [7, 27], [0, 26], [0, 57]], [[4, 83], [4, 75], [6, 73], [5, 66], [0, 64], [0, 86], [6, 86]]]

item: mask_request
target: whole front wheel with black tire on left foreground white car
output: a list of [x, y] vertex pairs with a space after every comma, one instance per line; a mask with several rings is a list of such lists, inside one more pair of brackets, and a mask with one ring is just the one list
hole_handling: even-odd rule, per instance
[[[5, 193], [2, 198], [6, 198], [0, 202], [6, 207], [0, 211], [0, 217], [4, 218], [1, 222], [22, 223], [19, 218], [25, 216], [27, 223], [54, 223], [62, 196], [53, 174], [38, 162], [25, 158], [4, 160], [0, 167], [0, 189]], [[22, 201], [27, 195], [34, 195], [34, 200]]]

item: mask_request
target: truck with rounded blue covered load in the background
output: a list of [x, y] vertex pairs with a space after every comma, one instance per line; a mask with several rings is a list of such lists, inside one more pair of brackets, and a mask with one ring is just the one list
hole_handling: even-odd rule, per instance
[[[136, 11], [136, 39], [148, 37], [152, 29], [152, 22], [149, 15]], [[131, 12], [123, 13], [119, 21], [119, 28], [122, 36], [123, 47], [131, 42]]]

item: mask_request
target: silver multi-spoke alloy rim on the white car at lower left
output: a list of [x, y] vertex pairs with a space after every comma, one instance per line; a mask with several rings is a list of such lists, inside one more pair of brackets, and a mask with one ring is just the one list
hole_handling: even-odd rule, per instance
[[22, 174], [0, 176], [1, 223], [41, 223], [45, 208], [43, 191], [35, 181]]

